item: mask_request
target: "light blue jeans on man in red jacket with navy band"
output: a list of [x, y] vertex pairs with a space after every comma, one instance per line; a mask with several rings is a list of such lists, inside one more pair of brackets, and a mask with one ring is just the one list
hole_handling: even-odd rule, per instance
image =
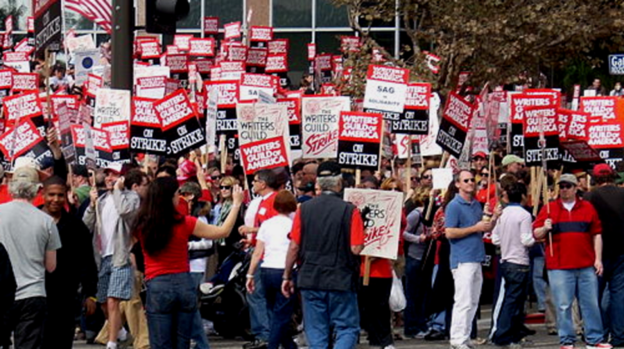
[[583, 330], [587, 343], [601, 343], [604, 332], [598, 305], [598, 277], [595, 269], [587, 267], [548, 270], [548, 280], [557, 312], [560, 343], [571, 345], [576, 339], [572, 323], [572, 301], [575, 295], [583, 316]]

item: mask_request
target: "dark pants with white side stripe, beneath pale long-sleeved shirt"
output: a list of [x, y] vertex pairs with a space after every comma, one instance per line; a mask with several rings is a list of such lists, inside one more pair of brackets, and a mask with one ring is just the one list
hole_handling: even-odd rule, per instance
[[494, 330], [492, 342], [497, 346], [507, 346], [511, 343], [518, 343], [524, 337], [522, 334], [524, 302], [530, 267], [503, 262], [501, 271], [505, 280], [505, 294], [499, 296], [503, 297], [503, 302], [499, 317], [496, 319], [496, 330]]

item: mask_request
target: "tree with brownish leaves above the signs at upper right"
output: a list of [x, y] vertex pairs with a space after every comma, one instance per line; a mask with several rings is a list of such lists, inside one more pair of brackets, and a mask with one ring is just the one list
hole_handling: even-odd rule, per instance
[[[456, 87], [461, 71], [471, 73], [469, 83], [475, 86], [501, 84], [539, 76], [543, 66], [595, 60], [589, 53], [596, 46], [624, 42], [624, 0], [333, 1], [347, 6], [349, 24], [363, 40], [362, 50], [345, 60], [355, 75], [343, 89], [356, 95], [363, 91], [359, 87], [372, 48], [392, 64], [410, 69], [415, 79], [445, 92]], [[391, 21], [397, 14], [410, 39], [399, 59], [370, 37], [374, 21]], [[424, 46], [442, 58], [437, 75], [426, 66]]]

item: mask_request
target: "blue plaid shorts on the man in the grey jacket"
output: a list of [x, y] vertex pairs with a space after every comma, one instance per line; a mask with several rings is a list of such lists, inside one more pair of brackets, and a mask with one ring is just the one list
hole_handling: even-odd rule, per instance
[[106, 256], [102, 259], [98, 278], [98, 302], [106, 303], [109, 297], [123, 301], [132, 298], [132, 284], [135, 280], [132, 265], [113, 267], [112, 256]]

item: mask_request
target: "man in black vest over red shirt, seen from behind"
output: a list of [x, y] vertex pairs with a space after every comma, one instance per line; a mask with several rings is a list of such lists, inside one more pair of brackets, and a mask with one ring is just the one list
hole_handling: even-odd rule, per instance
[[360, 211], [340, 196], [338, 163], [321, 163], [317, 184], [322, 194], [304, 202], [295, 214], [281, 292], [286, 297], [294, 293], [298, 260], [297, 287], [310, 348], [329, 348], [330, 328], [336, 334], [334, 348], [354, 348], [360, 334], [356, 289], [364, 224]]

